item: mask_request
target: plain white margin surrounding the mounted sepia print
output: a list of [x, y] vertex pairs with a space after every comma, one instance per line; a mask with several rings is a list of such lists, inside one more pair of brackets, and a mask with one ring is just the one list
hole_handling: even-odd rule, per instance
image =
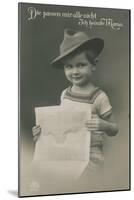
[[[47, 3], [47, 4], [64, 4], [89, 7], [105, 7], [105, 8], [125, 8], [132, 10], [132, 36], [134, 6], [132, 0], [36, 0], [36, 1], [21, 1], [32, 3]], [[0, 199], [12, 200], [16, 199], [17, 191], [17, 127], [18, 127], [18, 1], [1, 1], [0, 3]], [[133, 51], [133, 38], [132, 55]], [[134, 77], [132, 60], [132, 75]], [[133, 86], [133, 80], [132, 80]], [[132, 87], [133, 88], [133, 87]], [[132, 92], [132, 102], [134, 93]], [[132, 124], [134, 124], [134, 107], [132, 105]], [[132, 128], [132, 141], [133, 128]], [[134, 147], [132, 145], [132, 154]], [[132, 169], [134, 167], [134, 159], [132, 159]], [[108, 192], [108, 193], [90, 193], [80, 195], [66, 196], [49, 196], [46, 199], [133, 199], [134, 197], [134, 173], [132, 170], [132, 191], [127, 192]], [[36, 197], [41, 199], [43, 197]], [[25, 198], [24, 198], [25, 199]], [[29, 198], [33, 199], [33, 198]]]

